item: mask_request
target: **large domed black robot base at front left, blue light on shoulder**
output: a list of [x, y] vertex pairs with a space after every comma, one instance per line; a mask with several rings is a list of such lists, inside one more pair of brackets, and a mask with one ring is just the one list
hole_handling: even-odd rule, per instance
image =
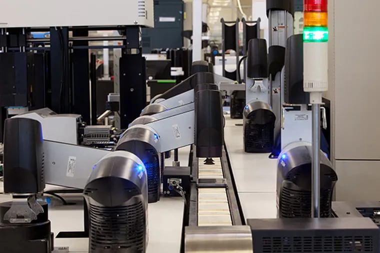
[[147, 180], [142, 162], [127, 152], [103, 157], [83, 195], [89, 217], [89, 253], [144, 253]]

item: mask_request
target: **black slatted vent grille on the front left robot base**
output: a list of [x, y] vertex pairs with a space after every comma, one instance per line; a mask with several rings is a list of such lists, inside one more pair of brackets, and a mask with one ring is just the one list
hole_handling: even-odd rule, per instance
[[[90, 205], [90, 248], [92, 251], [117, 249], [142, 252], [145, 241], [145, 210], [142, 202], [125, 207]], [[116, 251], [111, 251], [116, 252]]]

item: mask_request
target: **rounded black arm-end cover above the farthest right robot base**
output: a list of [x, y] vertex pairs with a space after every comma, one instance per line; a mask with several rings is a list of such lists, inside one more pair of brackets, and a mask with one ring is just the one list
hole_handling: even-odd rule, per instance
[[268, 76], [266, 40], [254, 38], [249, 40], [247, 47], [248, 78], [263, 78]]

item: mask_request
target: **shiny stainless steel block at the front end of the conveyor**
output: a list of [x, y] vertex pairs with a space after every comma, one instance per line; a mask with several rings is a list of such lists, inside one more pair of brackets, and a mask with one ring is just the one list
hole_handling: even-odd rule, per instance
[[185, 253], [252, 253], [249, 226], [186, 227]]

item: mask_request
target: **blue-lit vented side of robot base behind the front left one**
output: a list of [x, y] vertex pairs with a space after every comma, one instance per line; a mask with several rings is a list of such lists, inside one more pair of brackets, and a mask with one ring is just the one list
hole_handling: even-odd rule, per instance
[[148, 177], [148, 202], [153, 203], [159, 200], [159, 159], [157, 152], [147, 149], [148, 159], [143, 161]]

